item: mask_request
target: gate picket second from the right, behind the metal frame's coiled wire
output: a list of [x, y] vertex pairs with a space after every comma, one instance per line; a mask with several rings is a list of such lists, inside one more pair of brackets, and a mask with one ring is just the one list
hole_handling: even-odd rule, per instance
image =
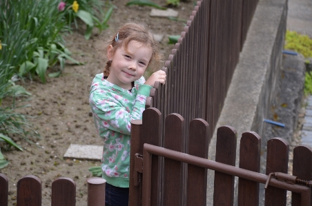
[[[266, 175], [272, 172], [287, 174], [289, 161], [289, 143], [282, 138], [271, 138], [267, 143]], [[286, 190], [276, 187], [266, 188], [265, 206], [285, 206]]]

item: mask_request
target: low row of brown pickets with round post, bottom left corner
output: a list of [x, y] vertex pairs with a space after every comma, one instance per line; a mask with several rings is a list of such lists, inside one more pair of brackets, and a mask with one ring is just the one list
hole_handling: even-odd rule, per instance
[[[105, 205], [103, 178], [88, 178], [88, 206]], [[17, 206], [41, 206], [41, 180], [27, 175], [17, 182]], [[8, 178], [0, 173], [0, 205], [8, 206]], [[57, 178], [52, 182], [51, 206], [75, 206], [76, 183], [70, 178]]]

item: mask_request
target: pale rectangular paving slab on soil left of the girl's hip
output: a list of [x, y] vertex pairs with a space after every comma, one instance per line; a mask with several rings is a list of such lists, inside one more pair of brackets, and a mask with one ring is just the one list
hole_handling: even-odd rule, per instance
[[64, 158], [101, 160], [102, 152], [103, 146], [70, 144], [64, 154]]

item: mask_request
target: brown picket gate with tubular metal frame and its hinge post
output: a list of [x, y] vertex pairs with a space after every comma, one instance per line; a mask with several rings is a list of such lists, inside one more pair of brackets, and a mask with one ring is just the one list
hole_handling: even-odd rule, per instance
[[[242, 134], [240, 165], [235, 167], [235, 129], [217, 129], [215, 161], [210, 161], [208, 123], [202, 119], [191, 121], [188, 140], [183, 132], [185, 124], [179, 114], [166, 116], [162, 136], [162, 114], [156, 108], [145, 110], [142, 121], [132, 122], [130, 206], [206, 205], [207, 169], [215, 170], [215, 206], [233, 205], [235, 176], [239, 177], [239, 206], [259, 205], [260, 183], [266, 184], [266, 206], [286, 205], [287, 190], [293, 192], [293, 206], [311, 206], [311, 147], [293, 150], [292, 176], [287, 174], [289, 143], [272, 138], [267, 143], [266, 174], [260, 174], [261, 138], [255, 132]], [[160, 143], [164, 143], [162, 147]]]

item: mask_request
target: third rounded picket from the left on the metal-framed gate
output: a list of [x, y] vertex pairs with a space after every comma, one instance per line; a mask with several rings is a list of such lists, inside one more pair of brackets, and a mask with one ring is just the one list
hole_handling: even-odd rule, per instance
[[[190, 123], [188, 154], [208, 158], [208, 123], [203, 119], [194, 119]], [[206, 205], [207, 169], [188, 165], [187, 204]]]

